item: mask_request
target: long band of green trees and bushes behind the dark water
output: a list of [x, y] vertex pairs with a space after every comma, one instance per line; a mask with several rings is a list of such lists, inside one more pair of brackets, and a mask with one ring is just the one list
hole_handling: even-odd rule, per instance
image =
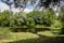
[[[0, 12], [0, 27], [12, 27], [14, 30], [23, 29], [22, 27], [27, 27], [27, 29], [35, 29], [42, 27], [54, 27], [60, 28], [62, 33], [64, 33], [64, 10], [60, 11], [59, 16], [55, 15], [53, 10], [46, 11], [33, 11], [29, 13], [13, 13], [9, 11]], [[25, 28], [24, 27], [24, 28]], [[16, 29], [17, 28], [17, 29]]]

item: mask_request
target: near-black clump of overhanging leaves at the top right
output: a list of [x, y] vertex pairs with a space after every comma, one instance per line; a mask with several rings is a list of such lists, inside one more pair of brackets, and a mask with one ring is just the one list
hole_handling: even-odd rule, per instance
[[44, 5], [44, 8], [49, 8], [50, 4], [55, 5], [60, 3], [60, 0], [40, 0], [40, 3], [41, 3], [40, 6]]

